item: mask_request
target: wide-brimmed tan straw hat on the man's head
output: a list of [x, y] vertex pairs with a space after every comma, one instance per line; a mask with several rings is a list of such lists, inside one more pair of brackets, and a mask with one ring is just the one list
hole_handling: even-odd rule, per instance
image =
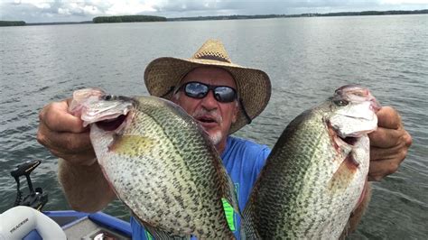
[[265, 109], [271, 97], [271, 82], [267, 74], [232, 63], [223, 43], [217, 40], [205, 42], [190, 59], [163, 57], [153, 60], [144, 71], [145, 87], [152, 96], [171, 99], [172, 91], [179, 87], [181, 79], [191, 69], [201, 66], [226, 69], [236, 81], [241, 106], [229, 134], [251, 123]]

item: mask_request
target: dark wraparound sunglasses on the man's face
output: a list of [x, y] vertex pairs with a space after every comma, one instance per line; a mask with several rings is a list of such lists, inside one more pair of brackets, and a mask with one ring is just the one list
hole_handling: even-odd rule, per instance
[[197, 81], [187, 82], [181, 88], [187, 97], [201, 99], [206, 97], [209, 90], [214, 93], [214, 98], [220, 103], [231, 103], [237, 99], [237, 90], [228, 86], [213, 86]]

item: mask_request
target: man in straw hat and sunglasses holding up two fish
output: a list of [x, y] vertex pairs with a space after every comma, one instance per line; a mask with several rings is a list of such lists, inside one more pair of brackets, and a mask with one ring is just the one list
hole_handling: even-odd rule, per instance
[[[144, 81], [151, 95], [171, 99], [207, 131], [235, 183], [243, 209], [270, 150], [230, 134], [265, 109], [271, 94], [265, 72], [233, 64], [221, 42], [209, 40], [189, 60], [152, 61], [145, 69]], [[67, 112], [69, 102], [51, 103], [42, 109], [37, 139], [62, 159], [59, 179], [71, 208], [98, 211], [115, 194], [95, 161], [88, 129]], [[369, 180], [381, 180], [395, 172], [412, 143], [393, 108], [383, 107], [377, 115], [379, 128], [370, 134]], [[131, 225], [133, 235], [144, 238], [144, 229], [134, 219]]]

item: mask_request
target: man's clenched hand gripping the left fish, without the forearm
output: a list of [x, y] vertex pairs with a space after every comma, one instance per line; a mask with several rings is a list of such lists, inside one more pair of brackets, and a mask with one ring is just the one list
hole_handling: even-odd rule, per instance
[[89, 131], [79, 117], [68, 112], [70, 100], [43, 107], [39, 114], [37, 141], [71, 164], [91, 165], [96, 162], [96, 156]]

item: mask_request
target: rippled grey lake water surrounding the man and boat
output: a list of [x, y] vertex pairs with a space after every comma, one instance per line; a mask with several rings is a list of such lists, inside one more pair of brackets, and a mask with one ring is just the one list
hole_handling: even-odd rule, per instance
[[[209, 38], [231, 59], [265, 69], [273, 94], [265, 111], [237, 135], [273, 146], [294, 116], [341, 85], [370, 88], [403, 117], [414, 144], [399, 171], [374, 183], [373, 198], [351, 237], [426, 239], [428, 235], [428, 14], [264, 20], [112, 23], [0, 28], [0, 212], [11, 208], [9, 171], [41, 159], [35, 187], [45, 209], [68, 209], [57, 160], [35, 140], [38, 112], [73, 90], [104, 88], [145, 95], [145, 66], [157, 57], [191, 57]], [[107, 213], [126, 218], [117, 201]]]

